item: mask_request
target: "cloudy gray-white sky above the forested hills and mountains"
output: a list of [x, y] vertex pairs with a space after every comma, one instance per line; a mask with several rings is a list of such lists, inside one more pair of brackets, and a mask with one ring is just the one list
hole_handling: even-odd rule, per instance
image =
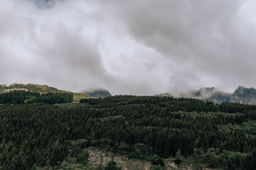
[[0, 0], [0, 83], [154, 95], [256, 87], [253, 0]]

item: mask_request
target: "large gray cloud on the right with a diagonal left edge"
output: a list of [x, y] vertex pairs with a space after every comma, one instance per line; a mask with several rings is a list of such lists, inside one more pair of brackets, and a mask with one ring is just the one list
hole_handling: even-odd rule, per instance
[[179, 67], [170, 69], [170, 90], [255, 84], [255, 24], [242, 15], [246, 1], [99, 2], [132, 38]]

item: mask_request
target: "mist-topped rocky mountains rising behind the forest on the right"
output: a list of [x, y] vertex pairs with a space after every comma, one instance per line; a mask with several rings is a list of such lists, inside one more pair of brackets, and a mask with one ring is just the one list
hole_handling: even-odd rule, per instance
[[[166, 93], [169, 94], [169, 93]], [[170, 94], [169, 94], [170, 95]], [[159, 94], [157, 96], [164, 97]], [[172, 95], [170, 95], [172, 96]], [[222, 92], [214, 87], [206, 87], [199, 90], [190, 90], [183, 92], [175, 97], [188, 97], [202, 99], [204, 101], [213, 101], [214, 103], [232, 102], [244, 104], [256, 104], [256, 89], [239, 86], [234, 93]]]

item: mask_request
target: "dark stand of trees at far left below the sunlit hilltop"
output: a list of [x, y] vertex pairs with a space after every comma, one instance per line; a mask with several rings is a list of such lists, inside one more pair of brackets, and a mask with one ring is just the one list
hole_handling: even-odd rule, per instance
[[0, 104], [71, 103], [73, 94], [68, 92], [39, 94], [25, 90], [13, 90], [0, 94]]

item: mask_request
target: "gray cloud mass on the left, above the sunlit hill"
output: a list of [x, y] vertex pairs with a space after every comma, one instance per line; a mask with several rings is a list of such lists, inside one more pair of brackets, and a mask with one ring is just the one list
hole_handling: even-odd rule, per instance
[[82, 90], [98, 83], [104, 86], [113, 79], [104, 69], [97, 44], [83, 29], [85, 25], [70, 24], [72, 17], [62, 18], [65, 11], [45, 11], [26, 1], [11, 1], [5, 8], [0, 17], [3, 83], [48, 83]]

